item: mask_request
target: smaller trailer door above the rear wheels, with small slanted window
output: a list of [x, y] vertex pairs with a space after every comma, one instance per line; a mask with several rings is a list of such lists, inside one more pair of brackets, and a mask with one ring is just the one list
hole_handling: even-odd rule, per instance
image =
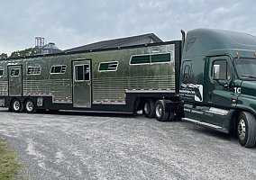
[[23, 69], [21, 65], [8, 66], [9, 95], [23, 95]]

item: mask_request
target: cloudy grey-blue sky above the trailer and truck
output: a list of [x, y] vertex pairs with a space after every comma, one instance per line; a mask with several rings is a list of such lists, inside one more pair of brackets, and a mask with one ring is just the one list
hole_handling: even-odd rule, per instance
[[180, 30], [256, 35], [255, 0], [0, 0], [0, 54], [32, 48], [35, 37], [59, 49], [155, 33], [180, 40]]

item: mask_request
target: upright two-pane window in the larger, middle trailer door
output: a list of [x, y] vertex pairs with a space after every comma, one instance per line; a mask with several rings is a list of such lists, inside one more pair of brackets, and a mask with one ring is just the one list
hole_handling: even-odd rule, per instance
[[76, 81], [90, 80], [90, 66], [89, 65], [76, 65], [75, 66]]

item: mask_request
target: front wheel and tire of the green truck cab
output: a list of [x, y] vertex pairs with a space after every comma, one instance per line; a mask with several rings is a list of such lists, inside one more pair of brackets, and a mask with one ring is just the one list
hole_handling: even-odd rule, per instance
[[241, 112], [237, 123], [237, 136], [240, 144], [251, 148], [256, 143], [256, 121], [250, 112]]

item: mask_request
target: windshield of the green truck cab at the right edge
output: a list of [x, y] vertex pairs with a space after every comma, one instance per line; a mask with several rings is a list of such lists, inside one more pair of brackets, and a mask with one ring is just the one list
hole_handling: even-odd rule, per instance
[[256, 58], [235, 58], [233, 64], [240, 79], [256, 81]]

